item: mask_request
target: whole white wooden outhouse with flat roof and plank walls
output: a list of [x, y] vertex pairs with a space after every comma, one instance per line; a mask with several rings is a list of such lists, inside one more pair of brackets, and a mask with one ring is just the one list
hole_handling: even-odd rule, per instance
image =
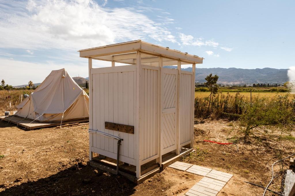
[[[138, 180], [193, 150], [195, 66], [203, 58], [141, 40], [79, 52], [89, 59], [90, 160], [93, 152], [116, 160], [121, 139], [120, 163]], [[112, 66], [93, 68], [95, 60]], [[189, 64], [191, 72], [181, 70]], [[156, 167], [143, 171], [150, 163]]]

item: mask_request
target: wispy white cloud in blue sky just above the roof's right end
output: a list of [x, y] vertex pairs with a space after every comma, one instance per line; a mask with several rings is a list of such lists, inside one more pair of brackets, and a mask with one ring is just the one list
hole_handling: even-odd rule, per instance
[[219, 43], [213, 40], [203, 41], [203, 38], [194, 38], [193, 36], [185, 35], [184, 33], [178, 33], [178, 35], [182, 44], [185, 46], [212, 46], [216, 48], [219, 45]]

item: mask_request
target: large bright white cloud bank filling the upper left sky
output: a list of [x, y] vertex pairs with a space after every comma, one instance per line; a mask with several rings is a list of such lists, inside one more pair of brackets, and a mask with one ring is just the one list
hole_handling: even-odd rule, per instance
[[78, 50], [136, 39], [176, 42], [164, 24], [136, 9], [104, 8], [93, 0], [7, 1], [0, 12], [2, 48]]

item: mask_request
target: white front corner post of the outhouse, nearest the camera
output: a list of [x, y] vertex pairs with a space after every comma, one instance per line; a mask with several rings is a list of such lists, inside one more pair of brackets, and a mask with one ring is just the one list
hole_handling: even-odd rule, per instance
[[141, 157], [140, 157], [140, 121], [141, 121], [141, 113], [140, 113], [140, 109], [141, 109], [141, 105], [140, 105], [140, 97], [141, 97], [141, 89], [140, 89], [140, 85], [142, 85], [141, 83], [141, 72], [142, 72], [142, 68], [141, 68], [141, 55], [140, 52], [137, 52], [136, 55], [136, 127], [134, 130], [134, 134], [135, 134], [135, 138], [136, 138], [136, 177], [140, 178], [141, 174], [140, 174], [140, 163], [141, 163]]

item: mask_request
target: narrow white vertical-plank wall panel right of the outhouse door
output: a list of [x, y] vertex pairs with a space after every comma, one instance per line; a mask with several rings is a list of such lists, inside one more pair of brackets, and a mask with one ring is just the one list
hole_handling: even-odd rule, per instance
[[192, 111], [192, 79], [193, 75], [181, 73], [180, 81], [180, 144], [191, 140], [191, 111]]

